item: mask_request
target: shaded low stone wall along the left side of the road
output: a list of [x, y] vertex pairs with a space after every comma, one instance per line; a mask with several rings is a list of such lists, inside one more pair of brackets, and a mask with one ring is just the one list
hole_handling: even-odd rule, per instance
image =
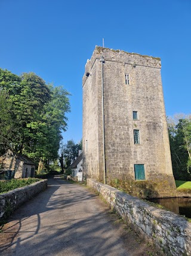
[[0, 195], [0, 222], [7, 219], [21, 204], [47, 188], [47, 179]]

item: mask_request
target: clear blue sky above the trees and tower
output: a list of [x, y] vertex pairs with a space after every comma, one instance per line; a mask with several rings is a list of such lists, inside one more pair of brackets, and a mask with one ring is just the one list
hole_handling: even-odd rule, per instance
[[82, 138], [82, 76], [94, 47], [161, 57], [168, 116], [190, 113], [191, 0], [0, 0], [0, 67], [63, 85], [64, 142]]

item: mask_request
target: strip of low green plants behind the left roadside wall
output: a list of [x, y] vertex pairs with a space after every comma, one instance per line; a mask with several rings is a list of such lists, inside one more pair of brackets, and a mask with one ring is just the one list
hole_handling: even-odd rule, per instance
[[0, 181], [0, 194], [6, 193], [21, 186], [27, 186], [32, 183], [39, 181], [40, 179], [29, 178], [29, 179], [11, 179]]

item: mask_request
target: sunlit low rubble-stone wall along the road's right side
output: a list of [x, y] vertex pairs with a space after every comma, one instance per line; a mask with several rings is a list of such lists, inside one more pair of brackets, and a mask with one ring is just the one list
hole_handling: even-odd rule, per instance
[[152, 238], [165, 255], [191, 255], [191, 223], [185, 218], [96, 180], [87, 179], [87, 185], [98, 191], [110, 207], [133, 224], [137, 231]]

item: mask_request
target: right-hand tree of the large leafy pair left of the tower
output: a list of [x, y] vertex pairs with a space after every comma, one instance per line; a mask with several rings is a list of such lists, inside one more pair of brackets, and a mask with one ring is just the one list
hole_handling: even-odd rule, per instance
[[40, 115], [41, 122], [28, 125], [35, 137], [27, 152], [30, 157], [41, 159], [39, 172], [42, 168], [47, 168], [50, 161], [58, 158], [61, 133], [66, 131], [67, 127], [66, 112], [70, 111], [69, 92], [61, 86], [54, 88], [53, 85], [49, 85], [48, 87], [51, 92], [51, 101], [44, 105], [44, 111]]

